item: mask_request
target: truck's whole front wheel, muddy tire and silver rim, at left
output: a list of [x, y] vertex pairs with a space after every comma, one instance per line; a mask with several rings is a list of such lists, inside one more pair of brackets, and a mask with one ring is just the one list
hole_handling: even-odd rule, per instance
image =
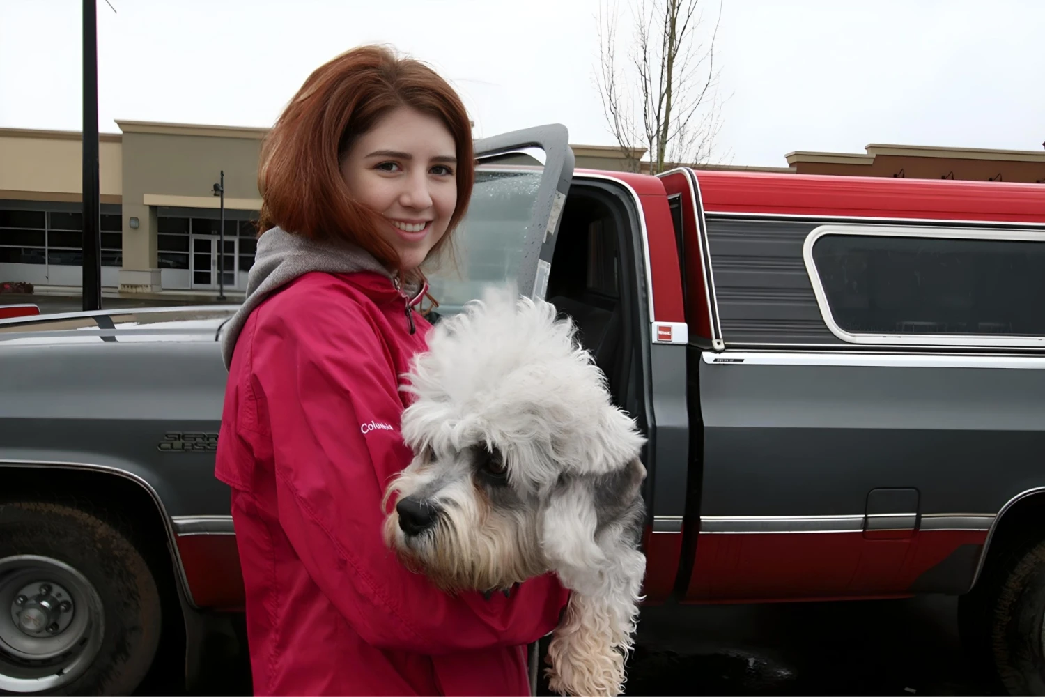
[[117, 528], [0, 503], [0, 694], [129, 695], [159, 641], [156, 581]]

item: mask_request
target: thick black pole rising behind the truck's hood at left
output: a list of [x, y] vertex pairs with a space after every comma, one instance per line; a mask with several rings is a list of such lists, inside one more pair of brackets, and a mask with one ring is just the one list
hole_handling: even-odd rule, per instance
[[84, 0], [83, 196], [84, 309], [101, 309], [101, 203], [98, 190], [98, 27], [95, 0]]

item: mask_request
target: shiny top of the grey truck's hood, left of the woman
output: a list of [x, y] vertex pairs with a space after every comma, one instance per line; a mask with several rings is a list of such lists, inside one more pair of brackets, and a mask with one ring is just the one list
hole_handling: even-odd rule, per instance
[[0, 347], [106, 342], [216, 342], [238, 305], [127, 307], [0, 320]]

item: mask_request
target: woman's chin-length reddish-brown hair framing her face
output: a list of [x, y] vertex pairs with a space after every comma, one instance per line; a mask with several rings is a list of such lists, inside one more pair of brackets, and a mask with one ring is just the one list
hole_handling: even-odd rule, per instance
[[265, 136], [258, 232], [279, 226], [316, 240], [351, 242], [398, 266], [395, 250], [378, 232], [384, 218], [352, 198], [341, 161], [355, 138], [400, 107], [436, 116], [454, 136], [457, 206], [429, 255], [442, 249], [464, 217], [475, 179], [468, 114], [432, 68], [380, 46], [354, 48], [317, 68]]

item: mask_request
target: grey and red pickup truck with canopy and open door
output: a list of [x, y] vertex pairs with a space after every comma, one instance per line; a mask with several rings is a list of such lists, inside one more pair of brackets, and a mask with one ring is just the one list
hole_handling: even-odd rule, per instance
[[[575, 167], [477, 142], [458, 311], [570, 315], [649, 437], [647, 604], [961, 596], [1045, 691], [1045, 187]], [[0, 692], [126, 694], [242, 610], [213, 477], [235, 306], [0, 321]], [[694, 628], [699, 632], [699, 628]]]

